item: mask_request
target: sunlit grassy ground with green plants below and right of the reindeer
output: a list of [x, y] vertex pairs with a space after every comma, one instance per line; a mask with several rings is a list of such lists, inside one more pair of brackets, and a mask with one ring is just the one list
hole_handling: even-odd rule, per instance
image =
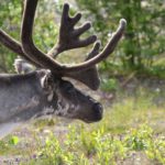
[[165, 164], [165, 102], [157, 101], [164, 89], [140, 86], [134, 95], [121, 89], [117, 94], [103, 102], [102, 121], [37, 121], [28, 136], [2, 140], [1, 156], [21, 155], [20, 164], [32, 165]]

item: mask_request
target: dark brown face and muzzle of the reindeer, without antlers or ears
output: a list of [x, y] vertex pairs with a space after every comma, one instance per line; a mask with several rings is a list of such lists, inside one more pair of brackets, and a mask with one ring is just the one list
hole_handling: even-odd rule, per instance
[[102, 106], [90, 96], [82, 94], [66, 80], [59, 80], [55, 114], [85, 122], [99, 121], [102, 118]]

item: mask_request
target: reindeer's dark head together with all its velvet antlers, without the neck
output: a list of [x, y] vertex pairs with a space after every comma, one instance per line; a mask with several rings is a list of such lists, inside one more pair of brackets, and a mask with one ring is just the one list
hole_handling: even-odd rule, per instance
[[[0, 42], [37, 68], [51, 70], [51, 76], [45, 81], [47, 82], [47, 87], [51, 86], [48, 94], [50, 106], [53, 106], [55, 109], [51, 114], [55, 113], [66, 118], [80, 119], [86, 122], [100, 120], [102, 118], [102, 106], [90, 96], [75, 88], [70, 81], [64, 80], [64, 77], [76, 79], [90, 89], [97, 90], [100, 79], [96, 65], [113, 52], [124, 32], [125, 20], [122, 19], [120, 21], [118, 30], [113, 33], [102, 52], [99, 53], [100, 42], [96, 42], [96, 35], [80, 38], [80, 35], [90, 29], [90, 23], [86, 22], [80, 28], [75, 29], [81, 14], [77, 13], [70, 18], [69, 6], [66, 3], [63, 8], [58, 42], [47, 54], [44, 54], [34, 45], [32, 37], [36, 6], [37, 0], [26, 0], [25, 2], [21, 29], [21, 44], [2, 30], [0, 30]], [[73, 66], [62, 65], [54, 59], [64, 51], [86, 47], [92, 43], [95, 43], [92, 50], [85, 62], [80, 64]]]

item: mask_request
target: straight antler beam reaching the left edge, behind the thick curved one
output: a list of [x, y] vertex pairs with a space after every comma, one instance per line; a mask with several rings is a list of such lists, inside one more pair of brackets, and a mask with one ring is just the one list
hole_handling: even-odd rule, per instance
[[19, 54], [22, 56], [25, 61], [34, 64], [35, 66], [40, 66], [37, 63], [32, 62], [22, 51], [21, 44], [12, 38], [10, 35], [8, 35], [3, 30], [0, 30], [0, 42], [8, 48], [10, 48], [12, 52]]

